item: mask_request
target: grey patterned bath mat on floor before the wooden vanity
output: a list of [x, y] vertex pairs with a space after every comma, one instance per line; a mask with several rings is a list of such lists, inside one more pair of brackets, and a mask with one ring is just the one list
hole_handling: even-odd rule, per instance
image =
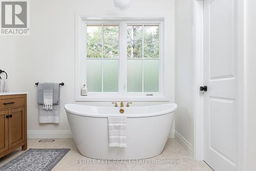
[[49, 171], [70, 151], [69, 148], [32, 149], [9, 161], [0, 170]]

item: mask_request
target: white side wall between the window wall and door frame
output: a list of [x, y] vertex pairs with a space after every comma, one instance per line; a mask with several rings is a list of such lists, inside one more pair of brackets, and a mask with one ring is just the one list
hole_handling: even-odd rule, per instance
[[194, 58], [191, 0], [175, 1], [175, 135], [192, 155], [194, 144]]

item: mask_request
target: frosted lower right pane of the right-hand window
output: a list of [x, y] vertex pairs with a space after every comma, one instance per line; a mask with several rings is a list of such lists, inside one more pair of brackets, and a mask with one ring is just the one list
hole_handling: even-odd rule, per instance
[[144, 92], [159, 91], [159, 60], [144, 59]]

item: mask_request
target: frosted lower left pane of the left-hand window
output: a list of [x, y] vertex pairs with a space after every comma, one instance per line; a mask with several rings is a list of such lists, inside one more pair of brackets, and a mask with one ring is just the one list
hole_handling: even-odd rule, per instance
[[101, 92], [101, 59], [87, 59], [87, 88], [89, 92]]

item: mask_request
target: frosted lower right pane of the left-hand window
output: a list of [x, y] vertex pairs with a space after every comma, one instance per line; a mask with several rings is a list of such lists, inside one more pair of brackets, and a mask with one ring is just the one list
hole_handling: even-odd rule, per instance
[[103, 60], [103, 92], [118, 92], [118, 59]]

